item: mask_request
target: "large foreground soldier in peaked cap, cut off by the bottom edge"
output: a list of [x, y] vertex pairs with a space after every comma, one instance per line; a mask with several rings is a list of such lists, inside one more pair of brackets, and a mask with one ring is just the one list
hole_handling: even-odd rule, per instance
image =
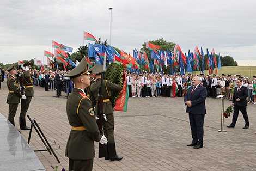
[[107, 144], [107, 138], [100, 135], [96, 124], [92, 102], [84, 94], [84, 89], [90, 85], [86, 66], [86, 58], [83, 58], [80, 64], [66, 75], [75, 84], [66, 101], [66, 113], [72, 126], [65, 153], [69, 157], [70, 171], [92, 170], [95, 157], [94, 141]]

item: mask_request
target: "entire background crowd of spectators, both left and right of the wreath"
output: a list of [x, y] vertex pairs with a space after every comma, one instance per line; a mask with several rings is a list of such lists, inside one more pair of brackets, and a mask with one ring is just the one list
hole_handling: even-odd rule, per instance
[[[3, 70], [2, 70], [3, 72]], [[19, 73], [19, 70], [17, 71]], [[31, 76], [34, 86], [45, 88], [45, 91], [58, 90], [56, 97], [59, 97], [61, 91], [70, 94], [74, 88], [74, 84], [70, 77], [65, 77], [69, 71], [51, 70], [40, 71], [31, 70]], [[4, 74], [3, 74], [4, 75]], [[5, 72], [7, 75], [7, 72]], [[56, 75], [57, 80], [56, 80]], [[225, 99], [233, 100], [234, 89], [237, 87], [237, 78], [242, 79], [242, 85], [248, 89], [248, 103], [256, 105], [256, 76], [253, 80], [240, 75], [181, 75], [181, 74], [150, 74], [142, 72], [135, 74], [127, 72], [127, 84], [129, 86], [129, 97], [182, 97], [185, 96], [188, 88], [192, 85], [192, 78], [199, 76], [201, 84], [207, 89], [207, 97], [216, 98], [218, 95], [225, 93]], [[2, 76], [2, 82], [4, 76]], [[60, 85], [60, 86], [59, 86]]]

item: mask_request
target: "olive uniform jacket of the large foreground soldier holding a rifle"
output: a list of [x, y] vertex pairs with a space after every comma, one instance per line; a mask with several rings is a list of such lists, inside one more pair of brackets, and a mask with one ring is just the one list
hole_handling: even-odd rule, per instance
[[74, 88], [66, 101], [66, 113], [71, 126], [84, 126], [86, 130], [71, 130], [66, 144], [66, 156], [73, 160], [95, 157], [94, 141], [101, 139], [92, 102], [82, 90]]

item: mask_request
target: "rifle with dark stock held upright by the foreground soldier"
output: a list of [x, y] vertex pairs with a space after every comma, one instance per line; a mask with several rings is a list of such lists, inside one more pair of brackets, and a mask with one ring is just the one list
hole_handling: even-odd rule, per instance
[[[103, 135], [103, 95], [102, 95], [102, 88], [103, 88], [103, 77], [105, 72], [101, 72], [101, 81], [100, 81], [100, 89], [99, 89], [99, 97], [98, 97], [98, 105], [97, 105], [97, 115], [99, 116], [99, 130], [100, 134]], [[99, 143], [99, 158], [107, 156], [107, 148], [106, 144]]]

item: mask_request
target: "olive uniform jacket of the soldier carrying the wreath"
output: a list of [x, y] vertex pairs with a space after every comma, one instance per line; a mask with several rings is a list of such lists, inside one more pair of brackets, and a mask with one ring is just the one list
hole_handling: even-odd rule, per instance
[[[97, 104], [97, 100], [99, 97], [100, 82], [101, 82], [101, 79], [98, 78], [96, 82], [90, 86], [90, 100], [92, 100], [93, 106], [96, 106]], [[113, 113], [112, 103], [107, 100], [110, 98], [111, 92], [121, 91], [122, 89], [123, 88], [121, 86], [118, 86], [117, 84], [114, 84], [108, 80], [103, 80], [102, 95], [103, 95], [103, 113], [104, 114]]]

